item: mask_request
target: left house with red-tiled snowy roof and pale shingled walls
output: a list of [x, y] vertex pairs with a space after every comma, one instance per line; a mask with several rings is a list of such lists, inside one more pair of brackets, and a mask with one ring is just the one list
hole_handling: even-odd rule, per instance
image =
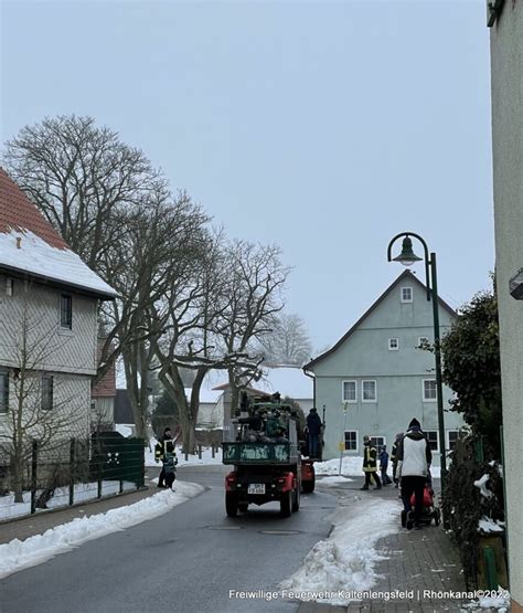
[[13, 411], [20, 406], [32, 437], [50, 429], [55, 436], [89, 435], [97, 307], [114, 297], [0, 169], [3, 442], [13, 435]]

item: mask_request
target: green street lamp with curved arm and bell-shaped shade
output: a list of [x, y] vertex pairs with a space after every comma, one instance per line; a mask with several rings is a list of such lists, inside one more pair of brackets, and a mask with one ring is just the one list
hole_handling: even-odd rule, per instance
[[[404, 236], [402, 243], [402, 253], [397, 257], [391, 257], [393, 244]], [[413, 251], [413, 241], [410, 236], [417, 239], [424, 249], [425, 253], [425, 277], [427, 286], [427, 300], [433, 300], [433, 317], [434, 317], [434, 356], [436, 360], [436, 393], [438, 401], [438, 430], [439, 430], [439, 457], [441, 471], [441, 495], [445, 490], [445, 479], [447, 476], [447, 458], [445, 455], [445, 418], [444, 418], [444, 394], [441, 381], [441, 349], [439, 342], [439, 299], [438, 299], [438, 279], [436, 275], [436, 254], [428, 253], [427, 243], [414, 232], [401, 232], [388, 243], [387, 260], [391, 262], [399, 262], [404, 266], [412, 266], [415, 262], [420, 262], [423, 258], [418, 257]]]

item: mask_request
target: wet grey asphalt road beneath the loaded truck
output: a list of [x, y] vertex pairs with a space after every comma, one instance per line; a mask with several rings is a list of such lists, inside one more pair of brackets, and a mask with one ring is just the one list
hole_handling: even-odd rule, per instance
[[298, 603], [246, 601], [230, 598], [230, 590], [275, 590], [328, 536], [337, 498], [323, 492], [302, 496], [300, 511], [287, 519], [275, 503], [227, 518], [225, 472], [180, 468], [179, 479], [200, 483], [205, 492], [157, 519], [0, 581], [0, 611], [297, 611]]

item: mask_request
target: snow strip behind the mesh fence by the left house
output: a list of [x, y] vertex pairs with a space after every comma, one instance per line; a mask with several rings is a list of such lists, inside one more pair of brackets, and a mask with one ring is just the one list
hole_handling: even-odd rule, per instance
[[[124, 492], [136, 489], [136, 484], [124, 482]], [[111, 496], [118, 494], [120, 490], [120, 482], [104, 480], [102, 482], [102, 496]], [[36, 492], [36, 498], [42, 490]], [[85, 500], [94, 500], [98, 497], [98, 484], [94, 483], [77, 483], [74, 486], [74, 503], [84, 503]], [[47, 503], [47, 508], [56, 509], [58, 507], [66, 507], [70, 504], [70, 488], [57, 487], [54, 495]], [[41, 512], [45, 509], [36, 509]], [[23, 493], [23, 503], [14, 501], [14, 494], [0, 496], [0, 521], [12, 519], [13, 517], [22, 517], [31, 514], [31, 492]]]

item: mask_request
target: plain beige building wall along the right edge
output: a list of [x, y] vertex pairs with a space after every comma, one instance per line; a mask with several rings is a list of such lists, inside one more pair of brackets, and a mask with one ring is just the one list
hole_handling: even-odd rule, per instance
[[[495, 272], [511, 611], [523, 613], [523, 2], [490, 11]], [[512, 283], [511, 283], [512, 281]], [[512, 292], [512, 294], [511, 294]]]

